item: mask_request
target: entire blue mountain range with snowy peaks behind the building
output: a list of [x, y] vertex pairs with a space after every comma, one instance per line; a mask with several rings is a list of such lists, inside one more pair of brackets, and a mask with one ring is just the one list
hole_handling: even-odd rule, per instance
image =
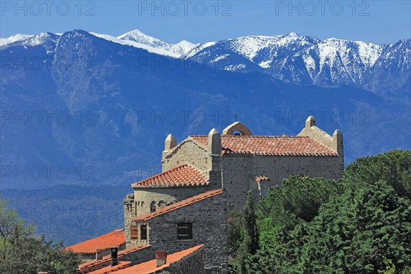
[[160, 172], [167, 134], [181, 141], [237, 117], [256, 135], [295, 135], [314, 114], [342, 130], [346, 164], [411, 148], [410, 39], [198, 45], [73, 30], [0, 42], [1, 188], [132, 184]]

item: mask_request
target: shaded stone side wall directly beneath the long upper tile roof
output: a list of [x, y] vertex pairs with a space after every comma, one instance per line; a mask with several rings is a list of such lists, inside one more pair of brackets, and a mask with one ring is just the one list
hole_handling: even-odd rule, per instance
[[270, 179], [269, 182], [260, 182], [264, 186], [264, 194], [267, 188], [279, 186], [284, 178], [295, 174], [340, 179], [344, 166], [340, 157], [223, 155], [221, 169], [227, 203], [240, 209], [249, 190], [254, 190], [256, 194], [260, 192], [253, 178], [256, 175], [265, 175]]

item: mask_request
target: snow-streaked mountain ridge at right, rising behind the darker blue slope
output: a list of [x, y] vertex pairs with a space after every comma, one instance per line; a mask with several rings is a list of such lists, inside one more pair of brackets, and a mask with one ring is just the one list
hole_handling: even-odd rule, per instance
[[[343, 84], [384, 94], [410, 90], [410, 57], [410, 40], [377, 45], [295, 33], [208, 42], [182, 56], [225, 71], [260, 71], [296, 84]], [[382, 77], [384, 85], [378, 84]]]

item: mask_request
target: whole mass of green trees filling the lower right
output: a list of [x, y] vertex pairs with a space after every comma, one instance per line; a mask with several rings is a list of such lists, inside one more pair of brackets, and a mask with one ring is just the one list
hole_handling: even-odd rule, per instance
[[411, 273], [410, 163], [411, 151], [390, 151], [338, 182], [284, 179], [258, 202], [258, 249], [237, 273]]

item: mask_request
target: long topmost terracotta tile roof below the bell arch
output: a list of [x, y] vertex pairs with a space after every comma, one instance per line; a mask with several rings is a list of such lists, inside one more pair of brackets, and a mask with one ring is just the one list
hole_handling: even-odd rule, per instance
[[[188, 136], [208, 146], [208, 136]], [[221, 135], [223, 154], [254, 154], [282, 156], [338, 156], [336, 151], [306, 136], [233, 136]]]

